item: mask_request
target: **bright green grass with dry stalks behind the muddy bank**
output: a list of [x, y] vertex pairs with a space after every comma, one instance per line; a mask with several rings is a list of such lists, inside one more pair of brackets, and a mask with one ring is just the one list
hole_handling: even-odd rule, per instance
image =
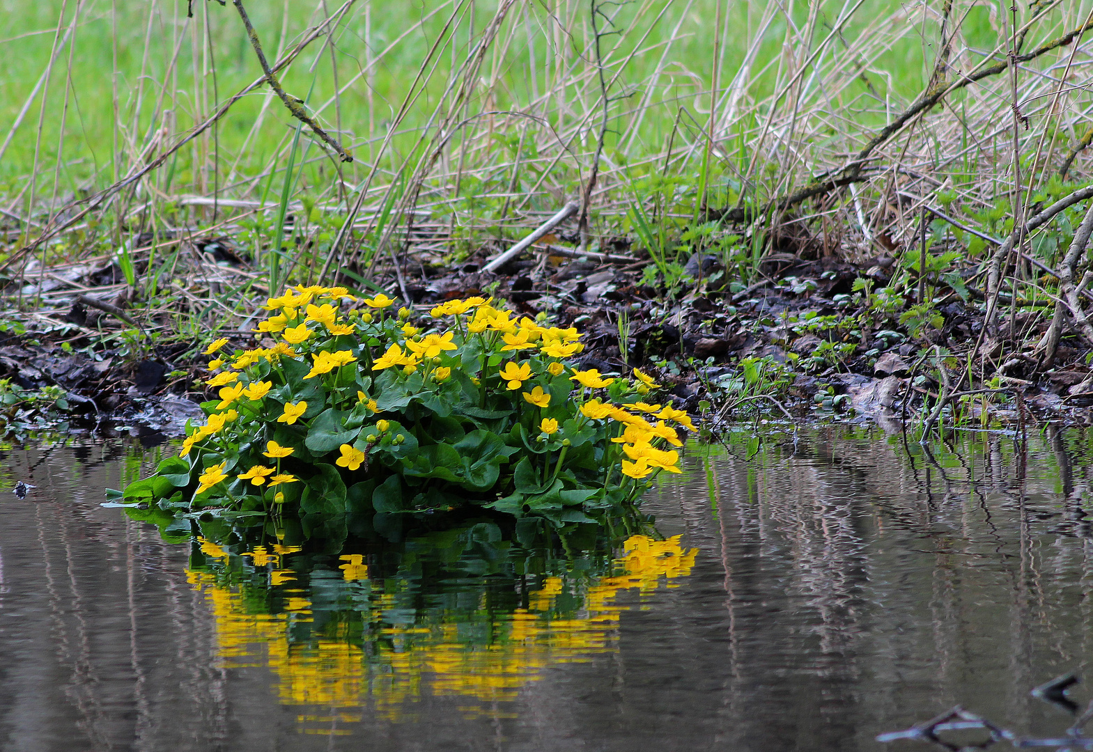
[[[1051, 7], [1024, 49], [1074, 28], [1091, 3]], [[20, 249], [69, 215], [58, 219], [58, 209], [165, 153], [161, 167], [110, 193], [59, 243], [34, 246], [34, 256], [49, 262], [113, 250], [136, 230], [224, 226], [278, 283], [346, 267], [368, 280], [400, 243], [411, 212], [459, 255], [525, 232], [536, 212], [579, 196], [591, 174], [603, 93], [588, 0], [251, 0], [271, 61], [337, 14], [332, 34], [315, 38], [279, 77], [355, 155], [351, 164], [297, 129], [268, 86], [172, 151], [260, 75], [232, 2], [193, 0], [192, 19], [186, 7], [0, 0], [8, 22], [0, 148], [11, 137], [0, 156], [0, 224], [9, 230], [0, 259], [30, 258]], [[493, 24], [500, 9], [507, 10]], [[610, 102], [593, 235], [635, 237], [666, 283], [692, 246], [720, 243], [729, 254], [736, 243], [721, 243], [724, 227], [700, 221], [704, 199], [714, 208], [769, 207], [845, 166], [926, 90], [941, 49], [940, 1], [635, 0], [601, 10], [611, 16], [600, 23], [612, 32], [601, 38]], [[1034, 12], [1022, 8], [1019, 25]], [[944, 30], [947, 82], [1004, 59], [1002, 19], [971, 0], [952, 4]], [[63, 38], [69, 44], [58, 47]], [[1089, 126], [1080, 87], [1050, 109], [1058, 70], [1050, 67], [1069, 56], [1059, 47], [1019, 74], [1022, 111], [1033, 125], [1020, 134], [1020, 150], [1030, 162], [1038, 155], [1039, 183]], [[1037, 67], [1050, 75], [1029, 72]], [[1011, 101], [1007, 75], [953, 92], [872, 154], [875, 173], [853, 195], [836, 191], [830, 203], [795, 211], [811, 231], [821, 216], [856, 227], [860, 254], [875, 254], [873, 234], [900, 245], [915, 232], [918, 210], [904, 212], [892, 200], [893, 176], [901, 176], [900, 190], [924, 197], [945, 186], [945, 205], [983, 226], [974, 218], [985, 207], [1009, 201]], [[214, 207], [212, 197], [230, 204]], [[346, 235], [340, 228], [351, 207], [361, 209], [352, 239], [331, 254]], [[281, 232], [289, 214], [295, 243]], [[742, 242], [745, 282], [777, 236], [774, 214], [760, 212]], [[700, 239], [689, 244], [689, 233]]]

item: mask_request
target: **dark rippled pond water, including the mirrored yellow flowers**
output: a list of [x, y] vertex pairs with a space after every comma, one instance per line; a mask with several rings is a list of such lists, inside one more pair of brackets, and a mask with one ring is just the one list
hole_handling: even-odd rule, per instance
[[957, 703], [1061, 731], [1029, 691], [1091, 673], [1093, 436], [910, 449], [744, 432], [651, 526], [566, 541], [156, 527], [99, 504], [168, 448], [8, 449], [0, 749], [909, 750], [874, 739]]

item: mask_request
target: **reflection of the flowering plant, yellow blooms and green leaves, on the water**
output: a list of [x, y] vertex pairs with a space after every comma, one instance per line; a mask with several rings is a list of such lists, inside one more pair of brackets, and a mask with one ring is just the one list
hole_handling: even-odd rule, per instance
[[[463, 549], [475, 532], [462, 531], [439, 553]], [[364, 577], [361, 554], [340, 556], [346, 563], [339, 565], [338, 577], [321, 565], [298, 574], [282, 568], [298, 547], [257, 545], [236, 557], [201, 539], [200, 550], [208, 564], [189, 569], [188, 581], [209, 601], [223, 666], [268, 666], [283, 705], [339, 712], [343, 724], [360, 721], [359, 713], [344, 710], [360, 710], [366, 702], [390, 720], [416, 720], [411, 703], [423, 693], [489, 703], [465, 703], [459, 710], [498, 717], [493, 704], [515, 701], [541, 669], [616, 651], [620, 614], [630, 608], [618, 596], [631, 589], [648, 595], [661, 583], [675, 586], [697, 553], [684, 550], [679, 536], [665, 541], [632, 536], [623, 556], [608, 564], [607, 576], [590, 573], [587, 565], [595, 562], [587, 559], [568, 562], [562, 576], [541, 577], [527, 589], [527, 607], [498, 611], [491, 608], [485, 583], [480, 591], [466, 584], [459, 588], [461, 608], [420, 608], [412, 575], [398, 572], [374, 584]], [[517, 552], [512, 563], [526, 571], [536, 555]], [[249, 564], [236, 561], [247, 557]], [[233, 574], [240, 573], [250, 575], [246, 587], [233, 585], [239, 580]], [[256, 585], [265, 575], [269, 587]], [[304, 579], [309, 590], [292, 587]], [[278, 587], [280, 594], [273, 591]], [[271, 596], [280, 612], [265, 610]], [[332, 716], [303, 713], [298, 720], [325, 725], [305, 731], [329, 733]]]

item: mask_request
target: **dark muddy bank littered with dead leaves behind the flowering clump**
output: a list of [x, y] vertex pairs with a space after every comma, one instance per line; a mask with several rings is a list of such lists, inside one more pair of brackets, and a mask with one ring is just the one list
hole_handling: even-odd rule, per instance
[[[521, 315], [576, 326], [585, 332], [584, 367], [640, 367], [709, 428], [773, 412], [792, 420], [875, 420], [898, 430], [929, 413], [939, 393], [960, 389], [976, 393], [953, 400], [955, 420], [1090, 422], [1090, 350], [1063, 337], [1050, 364], [1038, 357], [1050, 308], [1007, 317], [990, 338], [972, 284], [956, 285], [961, 294], [951, 290], [921, 318], [913, 301], [879, 307], [877, 292], [884, 292], [893, 269], [884, 256], [850, 263], [822, 251], [811, 260], [768, 254], [759, 281], [745, 286], [731, 280], [721, 258], [695, 254], [666, 285], [625, 239], [601, 250], [546, 244], [497, 273], [484, 271], [489, 247], [457, 265], [425, 255], [401, 283], [392, 268], [379, 268], [377, 282], [392, 293], [404, 290], [424, 322], [436, 303], [493, 295]], [[197, 251], [209, 255], [211, 274], [203, 281], [210, 286], [250, 271], [246, 254], [227, 238]], [[351, 279], [339, 281], [353, 286]], [[19, 326], [0, 334], [0, 378], [10, 379], [7, 431], [67, 422], [73, 430], [177, 436], [186, 418], [200, 418], [197, 406], [209, 396], [200, 380], [203, 341], [172, 330], [169, 314], [178, 312], [140, 299], [116, 263], [59, 269], [22, 292], [42, 304], [14, 315]], [[252, 320], [236, 326], [210, 330], [208, 338], [219, 333], [234, 346], [254, 346]], [[954, 387], [969, 355], [974, 381]], [[950, 413], [939, 419], [954, 420]]]

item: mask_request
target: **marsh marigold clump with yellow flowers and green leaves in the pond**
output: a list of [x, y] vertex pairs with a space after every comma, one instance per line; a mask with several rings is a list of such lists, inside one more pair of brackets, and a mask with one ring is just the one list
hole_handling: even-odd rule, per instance
[[393, 303], [320, 286], [270, 298], [255, 329], [268, 346], [204, 350], [205, 422], [121, 496], [223, 516], [477, 505], [564, 525], [680, 471], [687, 414], [656, 402], [659, 385], [637, 369], [576, 368], [575, 328], [481, 297], [424, 324]]

